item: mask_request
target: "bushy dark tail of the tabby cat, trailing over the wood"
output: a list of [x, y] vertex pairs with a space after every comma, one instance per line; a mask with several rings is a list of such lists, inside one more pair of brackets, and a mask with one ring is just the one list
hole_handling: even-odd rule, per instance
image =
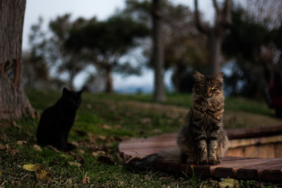
[[175, 161], [179, 163], [180, 156], [181, 155], [179, 149], [162, 150], [159, 151], [159, 153], [145, 156], [145, 158], [142, 158], [140, 161], [131, 161], [130, 163], [128, 163], [128, 165], [137, 170], [147, 171], [147, 170], [152, 170], [152, 168], [154, 167], [154, 163], [158, 159]]

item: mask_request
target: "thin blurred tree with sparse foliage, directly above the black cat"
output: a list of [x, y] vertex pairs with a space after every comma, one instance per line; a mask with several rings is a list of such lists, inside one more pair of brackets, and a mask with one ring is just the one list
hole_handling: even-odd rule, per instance
[[[94, 22], [93, 18], [89, 22]], [[47, 58], [51, 61], [53, 67], [56, 66], [54, 72], [68, 75], [68, 87], [74, 89], [73, 80], [78, 73], [80, 73], [87, 61], [82, 58], [82, 54], [76, 51], [68, 51], [66, 46], [66, 39], [70, 35], [71, 30], [75, 27], [82, 27], [87, 21], [83, 18], [78, 18], [74, 22], [71, 21], [71, 14], [65, 14], [58, 16], [56, 19], [51, 20], [49, 23], [49, 29], [51, 31], [51, 37], [48, 39], [48, 54]]]

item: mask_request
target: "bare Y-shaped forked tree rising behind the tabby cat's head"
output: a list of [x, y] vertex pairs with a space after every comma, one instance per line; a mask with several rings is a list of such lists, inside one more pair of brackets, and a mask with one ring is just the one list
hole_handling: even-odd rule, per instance
[[197, 0], [195, 3], [195, 23], [197, 29], [209, 37], [209, 48], [211, 53], [210, 63], [212, 74], [220, 72], [221, 69], [221, 41], [223, 34], [231, 25], [231, 0], [225, 0], [223, 8], [221, 8], [216, 0], [213, 0], [215, 9], [214, 27], [203, 25], [200, 19]]

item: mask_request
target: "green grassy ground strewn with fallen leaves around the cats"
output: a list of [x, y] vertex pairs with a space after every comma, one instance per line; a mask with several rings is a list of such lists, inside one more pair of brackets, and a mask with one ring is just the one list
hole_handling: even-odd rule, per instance
[[[28, 92], [32, 105], [42, 113], [59, 99], [59, 92]], [[152, 103], [149, 95], [83, 94], [78, 118], [69, 141], [78, 148], [70, 153], [39, 147], [35, 132], [38, 120], [23, 118], [0, 123], [0, 187], [207, 187], [216, 181], [201, 177], [174, 177], [157, 172], [133, 172], [117, 153], [118, 142], [178, 132], [191, 106], [188, 94], [171, 94], [164, 104]], [[246, 99], [226, 99], [226, 127], [277, 125], [266, 105]], [[106, 157], [99, 157], [104, 155]], [[42, 164], [40, 171], [27, 171], [27, 163]], [[44, 173], [47, 172], [47, 176]], [[42, 175], [42, 174], [41, 174]], [[46, 178], [44, 178], [46, 177]], [[241, 187], [258, 182], [240, 181]]]

